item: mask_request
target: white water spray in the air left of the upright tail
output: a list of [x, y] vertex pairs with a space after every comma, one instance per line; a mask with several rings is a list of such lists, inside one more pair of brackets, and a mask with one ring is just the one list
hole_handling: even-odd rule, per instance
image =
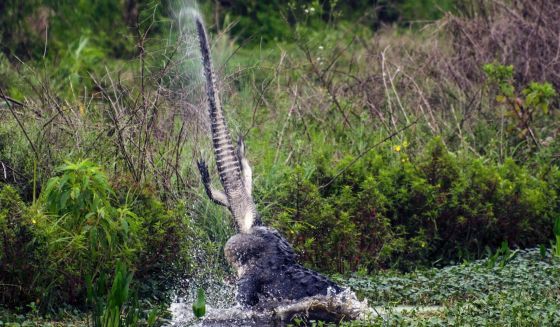
[[[170, 10], [171, 16], [174, 18], [173, 31], [170, 34], [175, 35], [173, 42], [177, 43], [175, 54], [177, 71], [174, 73], [178, 76], [173, 86], [180, 97], [177, 102], [181, 106], [180, 110], [186, 123], [187, 133], [194, 138], [193, 142], [198, 144], [197, 147], [204, 148], [204, 142], [207, 141], [209, 133], [209, 119], [205, 105], [204, 78], [195, 25], [195, 20], [202, 18], [196, 1], [178, 0], [170, 5]], [[209, 209], [204, 208], [204, 204], [197, 203], [196, 207], [190, 208], [190, 211], [193, 218], [200, 223], [207, 216], [219, 216], [219, 213], [211, 209], [208, 211]], [[225, 230], [227, 228], [224, 228]], [[215, 231], [209, 232], [209, 234], [212, 233]], [[200, 322], [194, 317], [192, 311], [196, 290], [199, 287], [202, 287], [206, 293], [207, 314], [214, 310], [232, 307], [235, 304], [234, 283], [226, 282], [227, 279], [233, 280], [233, 277], [228, 275], [225, 261], [216, 256], [215, 250], [208, 249], [209, 241], [200, 239], [200, 236], [189, 236], [183, 241], [191, 244], [195, 269], [188, 279], [181, 280], [176, 286], [169, 308], [172, 314], [171, 326], [194, 326]]]

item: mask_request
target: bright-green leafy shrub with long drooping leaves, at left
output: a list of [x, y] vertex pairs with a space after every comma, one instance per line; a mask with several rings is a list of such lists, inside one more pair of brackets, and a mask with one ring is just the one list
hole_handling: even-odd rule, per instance
[[56, 240], [49, 244], [51, 254], [69, 271], [98, 272], [119, 258], [134, 262], [140, 221], [128, 207], [113, 207], [105, 174], [89, 161], [67, 163], [57, 172], [42, 192], [47, 230]]

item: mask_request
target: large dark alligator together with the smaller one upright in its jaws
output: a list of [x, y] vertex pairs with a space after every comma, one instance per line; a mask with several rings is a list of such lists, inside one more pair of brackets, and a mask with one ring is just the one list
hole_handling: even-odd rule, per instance
[[[341, 293], [342, 288], [336, 283], [298, 264], [288, 241], [277, 230], [263, 225], [252, 197], [252, 170], [245, 145], [239, 138], [237, 148], [233, 146], [216, 88], [206, 30], [200, 17], [195, 21], [214, 156], [223, 191], [212, 187], [206, 163], [200, 160], [197, 164], [206, 194], [216, 204], [229, 209], [238, 232], [224, 248], [228, 263], [237, 271], [238, 303], [249, 308], [270, 308], [280, 303]], [[317, 316], [331, 317], [323, 313]]]

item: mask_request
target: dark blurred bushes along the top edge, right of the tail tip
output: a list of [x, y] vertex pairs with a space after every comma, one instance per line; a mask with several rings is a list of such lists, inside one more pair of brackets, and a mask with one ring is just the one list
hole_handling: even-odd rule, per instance
[[212, 6], [221, 14], [221, 25], [232, 24], [232, 35], [258, 45], [261, 42], [287, 41], [292, 28], [308, 24], [317, 30], [341, 21], [377, 28], [382, 23], [408, 26], [415, 21], [435, 20], [453, 9], [454, 0], [354, 0], [354, 1], [222, 1]]

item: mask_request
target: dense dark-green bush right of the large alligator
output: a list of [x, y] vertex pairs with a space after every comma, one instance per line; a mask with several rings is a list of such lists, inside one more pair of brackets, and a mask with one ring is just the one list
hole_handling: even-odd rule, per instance
[[294, 168], [270, 215], [310, 265], [331, 271], [412, 269], [482, 256], [502, 242], [548, 243], [557, 190], [508, 159], [449, 152], [439, 138], [410, 157], [407, 144], [334, 167]]

